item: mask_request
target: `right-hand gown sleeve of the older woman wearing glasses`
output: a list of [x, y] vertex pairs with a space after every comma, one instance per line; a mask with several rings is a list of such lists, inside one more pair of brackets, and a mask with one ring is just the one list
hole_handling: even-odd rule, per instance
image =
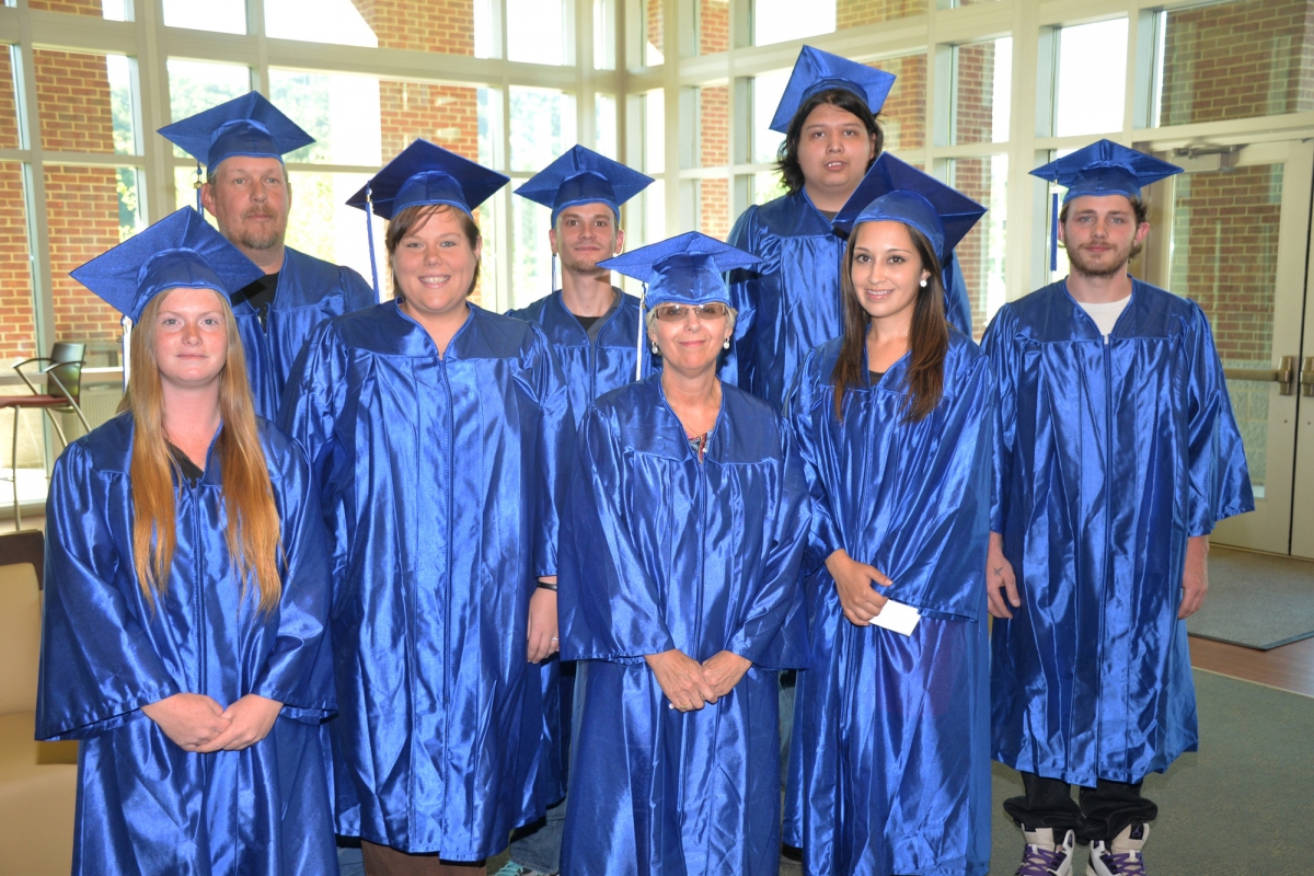
[[769, 670], [798, 668], [807, 658], [799, 566], [808, 541], [808, 485], [798, 443], [783, 419], [778, 429], [783, 450], [781, 485], [775, 507], [763, 520], [762, 578], [745, 605], [744, 624], [725, 646]]

